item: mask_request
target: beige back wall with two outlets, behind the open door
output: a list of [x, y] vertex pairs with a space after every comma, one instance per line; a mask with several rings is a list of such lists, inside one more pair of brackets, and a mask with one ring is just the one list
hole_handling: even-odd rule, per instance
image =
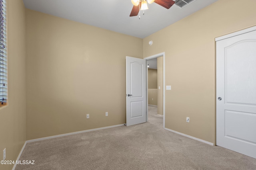
[[26, 9], [27, 140], [126, 123], [126, 56], [142, 39]]

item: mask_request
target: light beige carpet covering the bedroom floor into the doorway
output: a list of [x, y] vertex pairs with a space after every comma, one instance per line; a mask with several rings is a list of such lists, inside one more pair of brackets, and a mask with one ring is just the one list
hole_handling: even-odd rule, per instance
[[149, 122], [28, 143], [16, 170], [256, 170], [256, 159], [166, 131]]

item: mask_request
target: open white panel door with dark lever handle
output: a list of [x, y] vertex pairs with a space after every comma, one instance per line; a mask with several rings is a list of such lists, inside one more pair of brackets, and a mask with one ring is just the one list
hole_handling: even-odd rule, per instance
[[146, 60], [126, 57], [126, 126], [146, 122]]

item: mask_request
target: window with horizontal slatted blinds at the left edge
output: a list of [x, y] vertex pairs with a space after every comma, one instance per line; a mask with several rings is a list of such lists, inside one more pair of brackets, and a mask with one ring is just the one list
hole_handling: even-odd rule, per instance
[[0, 0], [0, 107], [7, 102], [6, 0]]

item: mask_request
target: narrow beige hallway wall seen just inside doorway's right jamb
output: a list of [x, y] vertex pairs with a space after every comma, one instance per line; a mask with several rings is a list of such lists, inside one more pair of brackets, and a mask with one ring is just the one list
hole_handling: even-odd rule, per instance
[[[164, 66], [164, 61], [163, 61], [163, 57], [158, 57], [157, 58], [157, 103], [158, 103], [158, 107], [157, 107], [157, 114], [158, 115], [163, 115], [163, 104], [164, 104], [164, 100], [163, 100], [163, 66]], [[160, 86], [160, 89], [159, 89]]]

